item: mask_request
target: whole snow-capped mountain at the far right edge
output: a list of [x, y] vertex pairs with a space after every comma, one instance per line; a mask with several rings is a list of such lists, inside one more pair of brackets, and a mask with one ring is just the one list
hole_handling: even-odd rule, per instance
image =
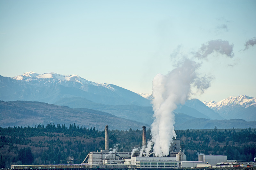
[[228, 97], [219, 102], [204, 101], [204, 104], [225, 119], [256, 121], [256, 98], [248, 96]]

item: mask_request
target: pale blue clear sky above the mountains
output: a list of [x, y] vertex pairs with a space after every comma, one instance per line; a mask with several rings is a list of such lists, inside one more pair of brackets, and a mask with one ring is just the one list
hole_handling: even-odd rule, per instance
[[[188, 57], [211, 77], [190, 98], [256, 97], [255, 9], [255, 0], [1, 0], [0, 75], [76, 74], [151, 93], [158, 73]], [[211, 42], [232, 54], [213, 48], [195, 57]]]

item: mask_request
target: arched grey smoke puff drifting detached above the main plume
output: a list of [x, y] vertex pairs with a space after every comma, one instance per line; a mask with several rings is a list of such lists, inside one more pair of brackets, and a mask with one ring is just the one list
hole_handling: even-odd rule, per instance
[[218, 52], [222, 55], [226, 55], [229, 58], [233, 58], [233, 46], [228, 41], [223, 40], [211, 40], [201, 45], [201, 48], [195, 53], [195, 57], [198, 59], [204, 59], [213, 52]]

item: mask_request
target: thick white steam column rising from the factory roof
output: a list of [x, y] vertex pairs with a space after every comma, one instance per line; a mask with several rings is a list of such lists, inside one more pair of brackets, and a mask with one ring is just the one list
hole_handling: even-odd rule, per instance
[[199, 66], [196, 62], [185, 59], [169, 74], [157, 74], [153, 79], [152, 104], [155, 120], [151, 124], [151, 140], [156, 156], [169, 155], [172, 138], [176, 138], [172, 111], [188, 99], [190, 86], [197, 79], [196, 70]]

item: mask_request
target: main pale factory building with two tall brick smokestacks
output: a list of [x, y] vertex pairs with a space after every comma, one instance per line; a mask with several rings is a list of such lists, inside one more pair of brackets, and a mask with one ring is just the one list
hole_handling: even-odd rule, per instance
[[[142, 127], [142, 145], [146, 146], [146, 127]], [[181, 167], [186, 155], [180, 150], [180, 141], [174, 140], [168, 157], [139, 156], [139, 152], [113, 152], [108, 149], [108, 125], [105, 127], [105, 150], [90, 152], [82, 165], [119, 165], [124, 168], [174, 169]]]

